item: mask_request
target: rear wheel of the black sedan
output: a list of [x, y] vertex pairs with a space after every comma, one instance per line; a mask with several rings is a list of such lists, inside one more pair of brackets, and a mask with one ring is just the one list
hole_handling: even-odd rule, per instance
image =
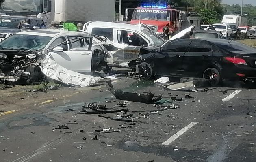
[[210, 81], [210, 86], [215, 87], [221, 82], [221, 75], [216, 68], [208, 68], [204, 71], [203, 78]]

